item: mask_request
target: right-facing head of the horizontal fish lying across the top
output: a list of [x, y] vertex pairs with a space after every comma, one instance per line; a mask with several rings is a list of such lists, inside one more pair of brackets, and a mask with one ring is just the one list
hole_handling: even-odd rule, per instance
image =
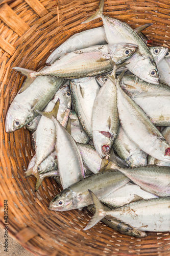
[[120, 43], [110, 45], [110, 56], [112, 61], [119, 65], [129, 59], [137, 49], [138, 46], [133, 44]]

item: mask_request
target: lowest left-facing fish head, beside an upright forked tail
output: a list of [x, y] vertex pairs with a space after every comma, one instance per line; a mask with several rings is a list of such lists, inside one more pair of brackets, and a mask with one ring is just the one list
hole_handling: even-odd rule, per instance
[[76, 193], [69, 187], [62, 190], [53, 200], [50, 202], [48, 209], [56, 211], [64, 211], [76, 209], [78, 206], [78, 200]]

